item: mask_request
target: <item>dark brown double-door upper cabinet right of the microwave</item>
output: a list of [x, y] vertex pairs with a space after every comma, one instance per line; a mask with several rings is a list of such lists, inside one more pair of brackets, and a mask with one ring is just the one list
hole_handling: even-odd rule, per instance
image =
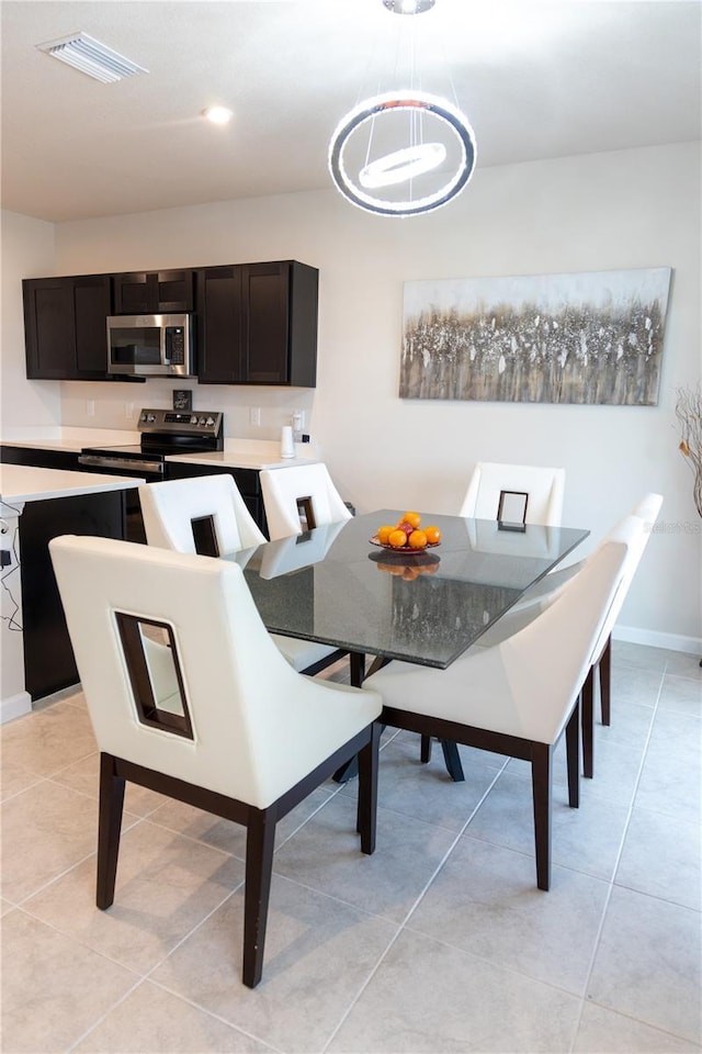
[[296, 260], [197, 271], [200, 383], [314, 388], [318, 278]]

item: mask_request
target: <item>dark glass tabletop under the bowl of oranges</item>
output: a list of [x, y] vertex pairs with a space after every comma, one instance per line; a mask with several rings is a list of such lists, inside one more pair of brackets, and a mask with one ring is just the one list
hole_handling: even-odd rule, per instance
[[445, 669], [589, 534], [422, 513], [441, 543], [394, 554], [381, 509], [233, 556], [271, 632]]

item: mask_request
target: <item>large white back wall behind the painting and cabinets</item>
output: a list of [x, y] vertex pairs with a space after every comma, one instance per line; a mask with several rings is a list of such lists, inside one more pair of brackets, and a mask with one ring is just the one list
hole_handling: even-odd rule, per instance
[[[564, 522], [597, 540], [647, 491], [665, 495], [624, 607], [630, 636], [701, 647], [700, 520], [677, 449], [675, 389], [700, 375], [699, 145], [561, 158], [478, 170], [460, 199], [411, 220], [360, 212], [333, 190], [64, 223], [58, 273], [299, 259], [320, 269], [314, 392], [202, 386], [229, 435], [279, 435], [284, 414], [312, 412], [343, 496], [452, 512], [473, 463], [517, 460], [567, 470]], [[400, 401], [403, 282], [654, 266], [673, 268], [659, 405], [554, 406]], [[124, 418], [125, 400], [169, 405], [176, 386], [63, 384], [65, 424]], [[263, 407], [251, 429], [248, 407]], [[100, 421], [103, 424], [103, 421]]]

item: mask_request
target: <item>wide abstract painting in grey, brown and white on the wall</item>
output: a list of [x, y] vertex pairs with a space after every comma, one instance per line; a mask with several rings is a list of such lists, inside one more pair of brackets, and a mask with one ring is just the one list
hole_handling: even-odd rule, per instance
[[670, 276], [405, 282], [400, 399], [655, 406]]

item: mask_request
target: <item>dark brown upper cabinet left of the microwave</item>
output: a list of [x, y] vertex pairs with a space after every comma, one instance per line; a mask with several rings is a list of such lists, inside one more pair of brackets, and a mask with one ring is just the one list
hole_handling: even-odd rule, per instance
[[22, 294], [26, 375], [59, 381], [107, 380], [110, 276], [25, 279]]

